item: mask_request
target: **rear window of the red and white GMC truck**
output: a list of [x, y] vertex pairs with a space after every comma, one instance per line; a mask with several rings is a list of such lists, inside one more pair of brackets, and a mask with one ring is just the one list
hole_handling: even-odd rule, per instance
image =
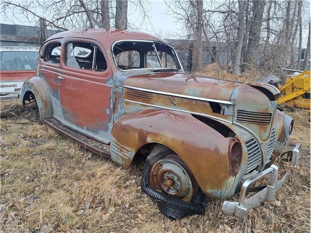
[[35, 70], [38, 52], [2, 51], [0, 70]]

